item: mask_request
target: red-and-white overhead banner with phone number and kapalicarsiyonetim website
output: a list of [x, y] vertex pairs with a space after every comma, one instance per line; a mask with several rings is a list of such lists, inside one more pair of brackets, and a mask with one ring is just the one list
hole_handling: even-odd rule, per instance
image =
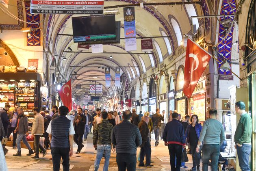
[[31, 0], [30, 13], [103, 14], [104, 0]]

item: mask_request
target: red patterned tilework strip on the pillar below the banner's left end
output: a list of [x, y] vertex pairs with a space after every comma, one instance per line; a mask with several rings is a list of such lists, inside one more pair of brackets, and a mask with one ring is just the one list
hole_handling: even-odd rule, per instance
[[[40, 15], [30, 13], [30, 2], [25, 2], [26, 22], [27, 27], [33, 28], [32, 32], [27, 32], [27, 46], [41, 45], [41, 31], [40, 31]], [[38, 24], [30, 24], [38, 23]], [[30, 36], [28, 34], [30, 33]]]

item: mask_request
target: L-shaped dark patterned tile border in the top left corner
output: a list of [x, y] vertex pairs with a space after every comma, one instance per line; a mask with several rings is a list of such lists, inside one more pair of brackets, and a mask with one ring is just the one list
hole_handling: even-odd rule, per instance
[[[18, 11], [18, 18], [23, 20], [23, 6], [22, 0], [17, 0], [17, 11]], [[24, 26], [22, 21], [18, 21], [18, 24], [0, 24], [0, 28], [2, 29], [22, 29]]]

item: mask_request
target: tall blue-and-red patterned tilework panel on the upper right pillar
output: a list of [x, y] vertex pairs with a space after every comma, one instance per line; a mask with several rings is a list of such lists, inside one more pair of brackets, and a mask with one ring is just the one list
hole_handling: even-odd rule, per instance
[[[221, 12], [220, 15], [232, 15], [236, 12], [236, 4], [235, 0], [223, 0], [222, 5], [221, 5]], [[227, 19], [231, 19], [231, 22], [233, 21], [234, 17], [220, 17], [220, 22], [224, 21]], [[228, 61], [230, 65], [230, 70], [231, 68], [231, 52], [232, 52], [232, 39], [233, 39], [233, 30], [234, 26], [231, 28], [231, 31], [228, 33], [228, 36], [225, 38], [227, 34], [227, 30], [229, 28], [224, 27], [221, 23], [219, 24], [219, 37], [218, 37], [218, 47], [217, 50], [219, 52], [218, 54], [218, 68], [219, 68], [219, 74], [221, 75], [232, 75], [231, 71], [225, 70], [225, 69], [220, 69], [221, 65]], [[225, 58], [224, 58], [224, 57]], [[228, 60], [227, 60], [228, 59]]]

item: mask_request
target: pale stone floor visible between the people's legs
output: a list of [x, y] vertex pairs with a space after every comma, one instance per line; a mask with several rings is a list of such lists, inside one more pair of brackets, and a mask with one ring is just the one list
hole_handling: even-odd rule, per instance
[[[154, 137], [154, 136], [152, 136]], [[70, 158], [70, 170], [71, 171], [93, 171], [93, 164], [95, 160], [95, 154], [93, 144], [92, 144], [92, 134], [89, 134], [88, 140], [84, 142], [85, 147], [82, 149], [82, 153], [74, 154]], [[12, 149], [11, 147], [7, 147], [9, 152], [6, 155], [7, 166], [9, 171], [49, 171], [52, 170], [52, 161], [49, 160], [51, 158], [50, 150], [48, 150], [48, 154], [42, 157], [42, 154], [39, 154], [40, 159], [34, 160], [31, 159], [31, 156], [26, 156], [28, 153], [28, 149], [22, 149], [22, 157], [14, 157], [13, 154], [17, 152], [17, 150]], [[77, 145], [74, 145], [74, 152], [76, 152]], [[139, 149], [137, 150], [139, 153]], [[115, 153], [111, 153], [109, 171], [117, 171], [117, 164], [115, 162]], [[191, 169], [191, 155], [188, 155], [189, 162], [186, 163], [188, 168], [186, 170]], [[170, 171], [170, 163], [169, 163], [169, 151], [168, 147], [164, 146], [162, 140], [160, 140], [160, 144], [158, 147], [154, 146], [154, 139], [152, 139], [152, 160], [154, 161], [152, 165], [154, 167], [138, 167], [137, 171]], [[202, 161], [201, 161], [202, 162]], [[99, 171], [102, 171], [104, 165], [104, 159], [102, 159]], [[202, 166], [202, 164], [201, 164]], [[62, 166], [61, 166], [62, 168]], [[62, 169], [61, 169], [62, 170]]]

